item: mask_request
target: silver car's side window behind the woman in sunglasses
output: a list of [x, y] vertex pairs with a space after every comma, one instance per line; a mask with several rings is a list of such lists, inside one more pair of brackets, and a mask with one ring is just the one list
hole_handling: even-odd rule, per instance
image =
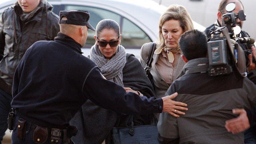
[[[96, 25], [102, 19], [113, 19], [120, 25], [122, 40], [121, 45], [126, 48], [141, 48], [144, 43], [151, 42], [147, 34], [130, 20], [118, 15], [117, 13], [89, 6], [66, 5], [65, 10], [88, 10], [90, 12], [90, 24], [96, 28]], [[95, 32], [88, 31], [88, 38], [85, 47], [91, 47], [95, 44]]]

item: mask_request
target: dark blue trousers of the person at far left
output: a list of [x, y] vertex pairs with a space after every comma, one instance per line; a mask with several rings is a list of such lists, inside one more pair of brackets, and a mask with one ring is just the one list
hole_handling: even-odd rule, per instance
[[7, 118], [11, 109], [12, 96], [0, 89], [0, 144], [8, 128]]

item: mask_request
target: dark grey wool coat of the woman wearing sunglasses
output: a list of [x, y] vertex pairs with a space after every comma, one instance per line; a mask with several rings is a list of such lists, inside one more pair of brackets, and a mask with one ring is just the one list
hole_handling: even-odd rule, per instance
[[[126, 59], [127, 63], [122, 70], [124, 86], [138, 90], [147, 97], [154, 96], [153, 87], [140, 61], [133, 54], [127, 54]], [[102, 109], [88, 100], [70, 121], [70, 125], [75, 125], [79, 129], [77, 136], [72, 140], [76, 144], [100, 144], [110, 134], [112, 127], [125, 127], [128, 117], [129, 115]], [[152, 115], [135, 116], [134, 125], [150, 124], [151, 119]], [[106, 143], [108, 142], [107, 139]]]

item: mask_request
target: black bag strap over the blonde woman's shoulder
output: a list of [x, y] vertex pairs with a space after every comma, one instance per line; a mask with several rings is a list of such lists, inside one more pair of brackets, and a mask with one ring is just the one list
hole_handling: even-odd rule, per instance
[[147, 74], [147, 77], [149, 78], [151, 84], [154, 86], [154, 82], [153, 82], [153, 77], [152, 75], [150, 74], [150, 69], [152, 67], [152, 61], [153, 61], [153, 55], [154, 55], [154, 51], [156, 49], [156, 43], [153, 42], [152, 45], [151, 45], [151, 48], [150, 48], [150, 52], [149, 52], [149, 55], [147, 57], [147, 63], [146, 63], [146, 66], [144, 68], [144, 70], [146, 71], [146, 74]]

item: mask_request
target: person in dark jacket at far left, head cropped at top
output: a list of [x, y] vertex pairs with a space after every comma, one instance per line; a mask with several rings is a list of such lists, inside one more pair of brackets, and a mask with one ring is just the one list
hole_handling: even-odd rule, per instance
[[25, 51], [39, 40], [54, 40], [58, 15], [46, 0], [17, 0], [0, 19], [0, 144], [7, 129], [15, 69]]

